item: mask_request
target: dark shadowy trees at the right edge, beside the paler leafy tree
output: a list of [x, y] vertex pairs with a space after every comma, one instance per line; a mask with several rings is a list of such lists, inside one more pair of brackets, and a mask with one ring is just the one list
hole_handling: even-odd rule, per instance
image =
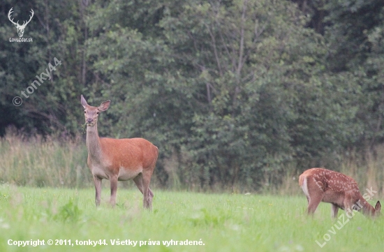
[[330, 45], [329, 68], [348, 82], [357, 84], [360, 94], [355, 122], [360, 125], [356, 142], [374, 147], [383, 142], [383, 1], [329, 1], [325, 20], [330, 22], [325, 38]]

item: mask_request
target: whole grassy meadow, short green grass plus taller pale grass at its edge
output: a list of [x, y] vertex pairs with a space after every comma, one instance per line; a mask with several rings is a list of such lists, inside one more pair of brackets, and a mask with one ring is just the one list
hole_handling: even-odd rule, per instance
[[[371, 205], [383, 200], [381, 153], [368, 156], [367, 163], [350, 157], [340, 167], [360, 191], [370, 186], [378, 191]], [[0, 251], [382, 251], [384, 246], [383, 217], [356, 213], [349, 219], [339, 211], [339, 220], [332, 221], [325, 203], [307, 217], [295, 174], [262, 193], [164, 191], [154, 177], [152, 212], [142, 209], [132, 181], [119, 182], [112, 209], [104, 180], [96, 208], [86, 159], [81, 139], [24, 140], [8, 134], [0, 140]], [[37, 240], [44, 245], [17, 246]], [[98, 244], [86, 245], [89, 241]]]

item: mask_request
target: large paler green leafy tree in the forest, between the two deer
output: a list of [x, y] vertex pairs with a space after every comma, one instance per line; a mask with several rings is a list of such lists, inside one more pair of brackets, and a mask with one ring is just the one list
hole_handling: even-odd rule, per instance
[[193, 169], [203, 170], [201, 184], [255, 186], [263, 172], [349, 143], [355, 108], [341, 106], [350, 105], [353, 94], [345, 93], [355, 85], [324, 73], [323, 38], [304, 28], [295, 6], [193, 2], [182, 10], [165, 10], [160, 26], [177, 71], [204, 98], [186, 147]]

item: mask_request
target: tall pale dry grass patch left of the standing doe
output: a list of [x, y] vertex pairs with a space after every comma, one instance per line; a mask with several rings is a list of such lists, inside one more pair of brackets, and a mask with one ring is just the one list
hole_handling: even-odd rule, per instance
[[29, 138], [8, 133], [0, 140], [0, 181], [20, 186], [85, 187], [93, 184], [87, 148], [63, 139]]

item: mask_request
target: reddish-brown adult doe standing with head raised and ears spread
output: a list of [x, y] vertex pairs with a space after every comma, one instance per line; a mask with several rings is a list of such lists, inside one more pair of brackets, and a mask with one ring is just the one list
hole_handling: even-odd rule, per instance
[[157, 147], [143, 138], [99, 138], [98, 114], [108, 110], [110, 101], [93, 107], [81, 96], [81, 104], [87, 124], [87, 163], [94, 176], [96, 207], [100, 205], [102, 179], [110, 180], [112, 206], [116, 205], [117, 181], [133, 179], [144, 196], [143, 207], [152, 209], [154, 194], [149, 188], [149, 182], [157, 161]]

